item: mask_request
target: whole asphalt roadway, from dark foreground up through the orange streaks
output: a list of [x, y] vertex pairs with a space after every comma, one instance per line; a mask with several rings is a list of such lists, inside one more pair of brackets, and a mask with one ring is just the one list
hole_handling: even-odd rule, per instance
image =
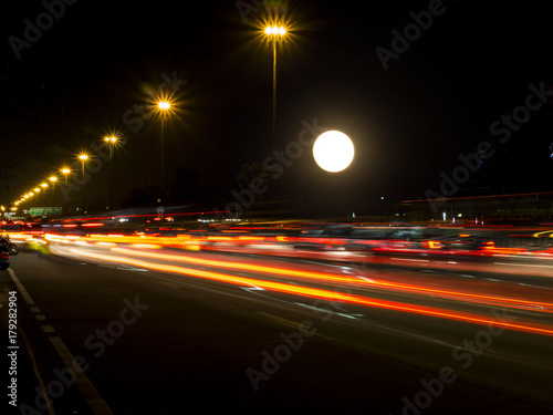
[[[497, 270], [467, 278], [462, 269], [432, 269], [431, 264], [359, 268], [298, 258], [187, 252], [207, 260], [349, 279], [336, 282], [129, 255], [136, 261], [133, 264], [81, 255], [113, 256], [108, 249], [77, 248], [53, 248], [58, 255], [22, 249], [12, 257], [10, 270], [0, 271], [2, 328], [8, 328], [10, 291], [17, 292], [19, 318], [19, 407], [10, 406], [4, 396], [7, 411], [553, 413], [553, 331], [547, 333], [553, 321], [546, 304], [553, 295], [546, 276], [531, 276], [520, 286], [512, 273]], [[236, 276], [237, 281], [148, 268], [146, 262]], [[417, 283], [426, 291], [359, 286], [361, 278]], [[336, 295], [331, 301], [252, 280], [324, 289]], [[428, 287], [498, 298], [476, 301], [431, 292]], [[517, 294], [530, 300], [510, 302]], [[491, 323], [355, 303], [341, 295], [478, 315]], [[503, 321], [543, 332], [493, 325]], [[8, 345], [8, 331], [2, 334]], [[10, 384], [8, 374], [2, 376], [4, 391], [6, 384]], [[40, 397], [43, 390], [53, 404], [50, 409]]]

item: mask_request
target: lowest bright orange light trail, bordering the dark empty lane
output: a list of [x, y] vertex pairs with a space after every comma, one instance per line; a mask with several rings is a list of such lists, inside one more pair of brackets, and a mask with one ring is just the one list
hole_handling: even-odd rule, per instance
[[383, 308], [383, 309], [394, 310], [394, 311], [401, 311], [401, 312], [430, 315], [430, 317], [437, 317], [437, 318], [449, 319], [449, 320], [465, 321], [465, 322], [476, 323], [476, 324], [490, 324], [490, 325], [495, 325], [499, 328], [520, 330], [520, 331], [538, 333], [538, 334], [553, 335], [553, 330], [546, 329], [544, 326], [522, 325], [522, 324], [514, 324], [512, 322], [500, 322], [497, 320], [490, 320], [490, 319], [481, 318], [481, 317], [478, 317], [474, 314], [469, 314], [469, 313], [455, 314], [452, 312], [444, 311], [444, 310], [435, 309], [435, 308], [428, 308], [428, 307], [421, 307], [421, 305], [405, 305], [403, 303], [398, 303], [395, 301], [385, 301], [385, 300], [375, 301], [375, 300], [369, 300], [369, 299], [361, 297], [361, 295], [344, 294], [341, 292], [328, 291], [328, 290], [323, 290], [323, 289], [309, 288], [309, 287], [302, 287], [302, 286], [291, 286], [291, 284], [282, 283], [282, 282], [265, 281], [265, 280], [259, 280], [259, 279], [254, 279], [254, 278], [246, 278], [246, 277], [230, 276], [230, 274], [223, 274], [223, 273], [211, 272], [211, 271], [202, 271], [202, 270], [184, 268], [184, 267], [152, 263], [152, 262], [146, 262], [146, 261], [126, 258], [126, 257], [85, 252], [85, 251], [82, 251], [79, 249], [71, 249], [71, 252], [81, 255], [83, 257], [102, 259], [102, 260], [106, 260], [106, 261], [119, 262], [119, 263], [125, 263], [125, 264], [132, 264], [135, 267], [143, 267], [143, 268], [158, 270], [158, 271], [175, 272], [175, 273], [187, 274], [187, 276], [191, 276], [191, 277], [199, 277], [199, 278], [205, 278], [205, 279], [220, 281], [220, 282], [227, 282], [227, 283], [233, 283], [233, 284], [248, 284], [248, 286], [253, 286], [253, 287], [260, 287], [260, 288], [263, 288], [263, 289], [267, 289], [270, 291], [284, 292], [284, 293], [290, 293], [290, 294], [299, 294], [299, 295], [319, 298], [319, 299], [328, 299], [328, 300], [334, 300], [334, 301], [344, 301], [344, 302], [356, 303], [356, 304], [362, 304], [362, 305], [377, 307], [377, 308]]

